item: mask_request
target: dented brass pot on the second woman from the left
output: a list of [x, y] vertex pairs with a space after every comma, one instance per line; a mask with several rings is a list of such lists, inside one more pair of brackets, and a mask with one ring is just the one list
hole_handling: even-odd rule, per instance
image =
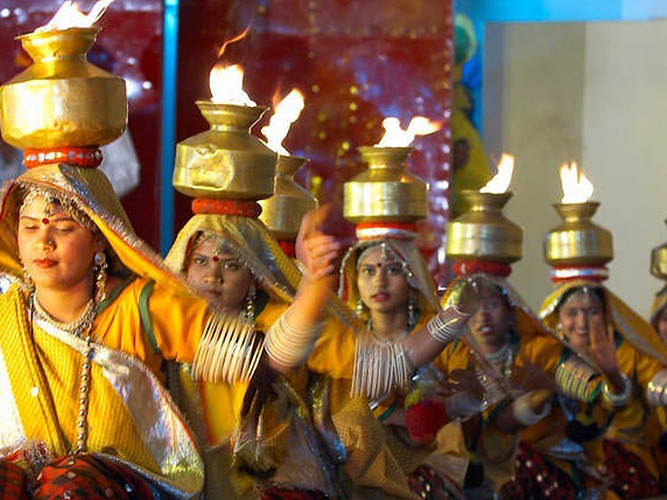
[[273, 195], [277, 154], [250, 134], [267, 108], [196, 104], [211, 128], [176, 145], [174, 188], [199, 198], [261, 200]]

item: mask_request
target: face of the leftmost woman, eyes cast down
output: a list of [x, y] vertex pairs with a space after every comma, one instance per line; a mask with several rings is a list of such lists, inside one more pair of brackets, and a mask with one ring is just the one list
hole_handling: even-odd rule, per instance
[[64, 291], [92, 285], [93, 256], [103, 249], [103, 240], [58, 203], [47, 204], [42, 197], [27, 202], [19, 215], [17, 240], [38, 292], [42, 287]]

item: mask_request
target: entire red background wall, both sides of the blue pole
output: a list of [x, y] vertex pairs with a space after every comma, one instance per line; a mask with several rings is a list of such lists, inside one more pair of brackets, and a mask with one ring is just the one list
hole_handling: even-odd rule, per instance
[[[92, 0], [82, 1], [84, 10]], [[29, 64], [13, 37], [46, 22], [60, 2], [8, 0], [0, 7], [0, 80]], [[141, 162], [141, 184], [123, 198], [137, 232], [159, 245], [162, 16], [158, 0], [116, 0], [102, 22], [91, 62], [130, 85], [129, 128]], [[246, 70], [246, 90], [261, 105], [294, 86], [306, 109], [285, 141], [310, 158], [297, 175], [330, 200], [359, 172], [356, 147], [374, 144], [382, 119], [414, 115], [444, 120], [445, 127], [417, 138], [408, 167], [430, 184], [429, 220], [420, 245], [439, 276], [448, 218], [451, 106], [451, 0], [182, 0], [179, 10], [177, 140], [202, 131], [194, 101], [210, 96], [208, 72], [225, 40], [250, 26], [223, 62]], [[260, 123], [257, 127], [261, 127]], [[319, 179], [318, 179], [319, 178]], [[174, 231], [190, 217], [190, 200], [177, 195]]]

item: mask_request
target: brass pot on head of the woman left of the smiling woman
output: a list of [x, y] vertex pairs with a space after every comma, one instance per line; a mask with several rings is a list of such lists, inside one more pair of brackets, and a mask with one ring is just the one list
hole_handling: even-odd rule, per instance
[[448, 257], [510, 264], [521, 258], [523, 229], [502, 213], [512, 193], [464, 189], [470, 209], [447, 226]]

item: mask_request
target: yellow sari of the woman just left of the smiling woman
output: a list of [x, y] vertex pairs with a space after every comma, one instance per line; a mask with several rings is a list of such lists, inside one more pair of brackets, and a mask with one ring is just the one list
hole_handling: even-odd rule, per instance
[[[465, 369], [472, 363], [473, 366], [477, 366], [479, 373], [492, 380], [498, 380], [494, 387], [487, 388], [488, 408], [465, 424], [471, 460], [482, 465], [484, 476], [494, 490], [499, 490], [514, 477], [515, 455], [517, 446], [522, 441], [529, 443], [535, 451], [549, 457], [564, 472], [571, 474], [568, 460], [581, 462], [582, 451], [580, 447], [566, 440], [566, 420], [558, 405], [552, 407], [549, 415], [516, 435], [504, 434], [494, 425], [494, 415], [518, 395], [516, 388], [520, 387], [526, 376], [530, 376], [530, 372], [525, 370], [534, 366], [549, 378], [558, 380], [560, 375], [558, 368], [565, 360], [566, 353], [565, 347], [547, 333], [536, 315], [506, 279], [490, 274], [483, 276], [502, 291], [512, 308], [513, 336], [510, 339], [512, 350], [510, 365], [505, 367], [504, 373], [500, 373], [488, 363], [483, 363], [482, 354], [469, 333], [447, 346], [436, 359], [436, 365], [443, 371]], [[457, 282], [455, 280], [448, 287], [442, 298], [443, 307], [455, 302], [451, 294], [452, 290], [456, 289]], [[598, 392], [599, 381], [592, 381], [586, 390], [577, 396], [594, 398]], [[478, 425], [477, 429], [473, 428], [475, 425]]]

